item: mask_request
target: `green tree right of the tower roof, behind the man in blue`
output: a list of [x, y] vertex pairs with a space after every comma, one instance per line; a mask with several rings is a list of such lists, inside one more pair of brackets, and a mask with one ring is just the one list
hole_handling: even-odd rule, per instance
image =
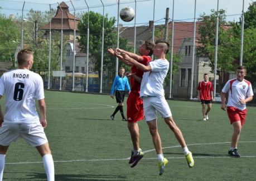
[[[100, 60], [102, 52], [102, 22], [103, 16], [100, 13], [89, 12], [89, 53], [90, 61], [94, 60], [95, 70], [100, 72]], [[107, 49], [110, 47], [115, 48], [117, 44], [117, 31], [114, 27], [115, 18], [108, 18], [108, 14], [104, 16], [104, 69], [113, 69], [115, 67], [115, 58], [109, 56]], [[78, 29], [80, 32], [80, 38], [78, 41], [80, 43], [80, 48], [86, 52], [87, 47], [87, 29], [88, 29], [88, 12], [81, 16], [80, 22], [78, 24]], [[132, 51], [131, 47], [128, 46], [128, 41], [126, 38], [119, 37], [119, 48]], [[120, 66], [125, 67], [122, 62], [119, 62]], [[114, 70], [112, 71], [114, 74]]]

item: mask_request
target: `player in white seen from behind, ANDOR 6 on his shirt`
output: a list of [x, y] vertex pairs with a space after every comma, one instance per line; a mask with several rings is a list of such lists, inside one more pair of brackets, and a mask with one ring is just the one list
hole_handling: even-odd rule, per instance
[[[46, 104], [44, 84], [40, 75], [31, 72], [33, 52], [22, 49], [18, 69], [3, 74], [0, 79], [0, 98], [6, 94], [6, 114], [0, 108], [0, 180], [3, 179], [5, 156], [11, 142], [24, 138], [36, 147], [44, 163], [47, 180], [54, 180], [54, 160], [46, 138]], [[38, 100], [40, 118], [36, 112]]]

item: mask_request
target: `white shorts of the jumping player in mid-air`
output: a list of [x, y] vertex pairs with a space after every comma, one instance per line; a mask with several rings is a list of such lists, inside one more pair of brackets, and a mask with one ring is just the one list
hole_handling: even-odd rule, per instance
[[157, 119], [157, 111], [163, 118], [172, 116], [171, 109], [165, 97], [142, 97], [143, 109], [146, 121]]

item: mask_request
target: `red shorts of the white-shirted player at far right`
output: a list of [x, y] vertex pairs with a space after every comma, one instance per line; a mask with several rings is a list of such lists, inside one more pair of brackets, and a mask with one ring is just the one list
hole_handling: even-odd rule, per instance
[[247, 116], [247, 109], [240, 110], [236, 107], [228, 107], [227, 109], [230, 124], [236, 121], [240, 121], [241, 125], [244, 125]]

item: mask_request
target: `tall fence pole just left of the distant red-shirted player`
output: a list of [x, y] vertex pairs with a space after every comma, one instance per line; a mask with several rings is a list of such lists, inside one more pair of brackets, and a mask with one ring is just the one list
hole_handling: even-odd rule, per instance
[[193, 30], [193, 46], [192, 46], [192, 62], [191, 62], [191, 88], [190, 99], [193, 98], [193, 81], [194, 81], [194, 62], [195, 62], [195, 48], [196, 48], [196, 0], [195, 0], [195, 12], [194, 12], [194, 30]]

